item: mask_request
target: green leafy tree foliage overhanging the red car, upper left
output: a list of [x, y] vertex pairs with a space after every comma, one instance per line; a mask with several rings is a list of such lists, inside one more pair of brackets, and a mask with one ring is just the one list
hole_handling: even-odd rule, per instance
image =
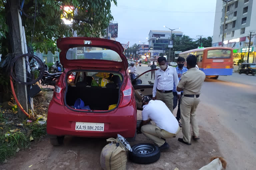
[[[18, 3], [18, 5], [15, 6], [16, 9], [12, 11], [13, 13], [8, 13], [12, 2], [15, 2], [15, 5]], [[14, 17], [15, 21], [12, 22], [10, 18], [13, 18], [13, 14], [17, 15], [18, 10], [22, 13], [22, 23], [30, 48], [32, 50], [39, 49], [41, 52], [55, 53], [57, 50], [56, 40], [64, 36], [71, 37], [73, 30], [77, 31], [78, 35], [87, 37], [104, 35], [109, 22], [113, 20], [110, 11], [111, 2], [117, 5], [116, 0], [26, 0], [23, 2], [22, 6], [19, 4], [22, 1], [0, 1], [0, 53], [2, 55], [0, 65], [6, 61], [7, 54], [11, 54], [9, 55], [11, 59], [14, 55], [21, 53], [21, 49], [19, 51], [14, 49], [12, 40], [14, 34], [19, 37], [18, 31], [13, 32], [10, 29], [13, 26], [12, 22], [15, 22], [17, 26], [17, 17]], [[72, 10], [64, 11], [64, 6], [70, 6]], [[72, 19], [73, 24], [64, 24], [62, 18]], [[17, 42], [20, 43], [20, 39]], [[6, 68], [0, 70], [0, 80], [4, 79], [9, 82], [6, 77], [6, 75], [8, 76], [7, 72]], [[0, 94], [5, 89], [1, 86], [3, 85], [0, 83]]]

